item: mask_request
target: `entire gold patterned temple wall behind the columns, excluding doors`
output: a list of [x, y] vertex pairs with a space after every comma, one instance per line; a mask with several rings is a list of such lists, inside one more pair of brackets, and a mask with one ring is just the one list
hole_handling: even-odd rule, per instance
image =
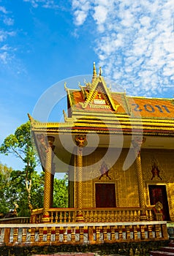
[[[135, 162], [123, 170], [128, 149], [112, 148], [107, 151], [106, 148], [97, 148], [96, 150], [86, 148], [83, 152], [83, 208], [95, 208], [95, 184], [109, 183], [116, 187], [116, 207], [139, 207], [139, 196], [137, 187], [137, 173]], [[132, 155], [133, 157], [133, 155]], [[170, 219], [174, 220], [174, 157], [173, 151], [161, 149], [142, 149], [141, 151], [142, 173], [144, 184], [145, 205], [150, 206], [149, 185], [166, 186], [167, 201], [170, 211]], [[110, 169], [107, 175], [101, 173], [102, 163], [105, 162]], [[156, 163], [159, 169], [159, 176], [154, 175], [152, 167]], [[112, 165], [110, 167], [109, 165]], [[74, 169], [71, 170], [74, 173]], [[70, 205], [77, 206], [77, 189], [75, 182], [70, 185]], [[73, 203], [72, 203], [72, 200]]]

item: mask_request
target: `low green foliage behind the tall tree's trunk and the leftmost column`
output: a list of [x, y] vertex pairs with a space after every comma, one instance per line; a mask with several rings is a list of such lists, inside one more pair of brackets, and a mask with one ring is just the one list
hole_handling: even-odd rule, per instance
[[[43, 207], [45, 173], [32, 174], [31, 204], [33, 208]], [[26, 179], [23, 170], [12, 170], [12, 168], [0, 163], [0, 214], [7, 214], [18, 206], [18, 217], [30, 215]], [[54, 179], [53, 207], [68, 207], [67, 176], [64, 179]]]

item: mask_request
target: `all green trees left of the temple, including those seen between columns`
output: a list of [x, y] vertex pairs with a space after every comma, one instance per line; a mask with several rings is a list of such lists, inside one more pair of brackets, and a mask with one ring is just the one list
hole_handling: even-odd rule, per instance
[[[22, 124], [0, 146], [1, 154], [13, 154], [23, 162], [23, 170], [12, 170], [0, 164], [0, 213], [14, 210], [18, 216], [29, 216], [32, 208], [43, 207], [45, 173], [35, 170], [38, 157], [31, 143], [30, 123]], [[53, 207], [68, 206], [67, 176], [54, 179]]]

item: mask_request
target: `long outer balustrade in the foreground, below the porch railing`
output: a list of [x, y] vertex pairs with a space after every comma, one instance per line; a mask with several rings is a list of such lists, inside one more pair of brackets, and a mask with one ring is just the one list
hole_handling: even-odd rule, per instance
[[0, 246], [167, 240], [167, 222], [0, 224]]

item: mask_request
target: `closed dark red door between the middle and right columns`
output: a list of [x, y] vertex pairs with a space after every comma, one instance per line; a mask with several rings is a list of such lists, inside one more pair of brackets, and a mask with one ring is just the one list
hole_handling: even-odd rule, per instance
[[112, 208], [116, 207], [116, 188], [115, 184], [96, 183], [96, 207]]

